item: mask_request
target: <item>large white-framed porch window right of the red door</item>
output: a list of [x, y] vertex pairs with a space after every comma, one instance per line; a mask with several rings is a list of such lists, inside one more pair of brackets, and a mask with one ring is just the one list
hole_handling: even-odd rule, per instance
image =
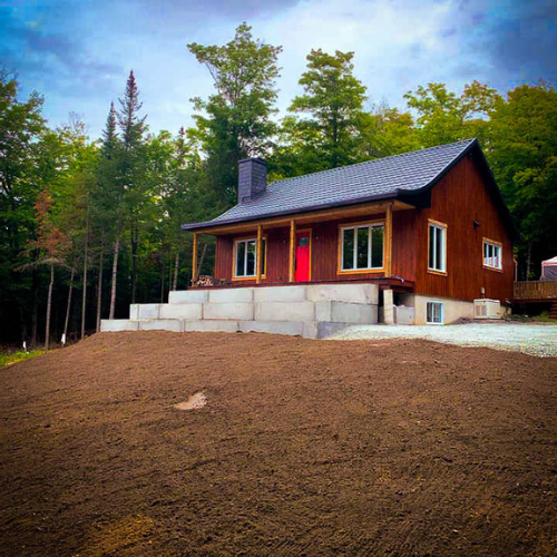
[[341, 228], [341, 272], [383, 268], [383, 223]]

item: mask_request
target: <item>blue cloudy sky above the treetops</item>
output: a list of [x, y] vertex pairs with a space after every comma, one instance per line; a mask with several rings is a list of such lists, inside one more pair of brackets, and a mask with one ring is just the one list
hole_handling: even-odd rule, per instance
[[428, 82], [557, 82], [557, 0], [0, 0], [0, 65], [45, 96], [50, 126], [76, 113], [91, 139], [134, 69], [149, 130], [177, 133], [214, 90], [187, 45], [228, 42], [243, 21], [283, 47], [280, 116], [312, 48], [354, 51], [369, 104], [399, 108]]

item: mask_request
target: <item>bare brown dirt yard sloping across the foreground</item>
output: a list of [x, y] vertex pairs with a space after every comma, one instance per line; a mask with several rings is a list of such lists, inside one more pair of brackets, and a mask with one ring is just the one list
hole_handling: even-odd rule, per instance
[[0, 381], [0, 555], [557, 554], [554, 358], [105, 333]]

